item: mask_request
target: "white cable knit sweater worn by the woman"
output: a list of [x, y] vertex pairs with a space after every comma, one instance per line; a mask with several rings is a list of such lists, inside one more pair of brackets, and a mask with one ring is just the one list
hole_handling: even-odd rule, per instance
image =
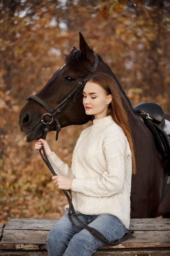
[[54, 152], [48, 159], [55, 173], [73, 179], [75, 211], [110, 213], [129, 227], [131, 151], [127, 137], [111, 116], [94, 119], [93, 125], [81, 132], [71, 168]]

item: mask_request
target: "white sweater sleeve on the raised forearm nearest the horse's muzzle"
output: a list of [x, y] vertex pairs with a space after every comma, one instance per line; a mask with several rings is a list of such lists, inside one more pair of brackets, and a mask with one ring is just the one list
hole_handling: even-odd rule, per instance
[[62, 162], [54, 152], [49, 155], [48, 159], [57, 175], [64, 175], [65, 177], [73, 178], [71, 177], [71, 168], [69, 168], [68, 164]]

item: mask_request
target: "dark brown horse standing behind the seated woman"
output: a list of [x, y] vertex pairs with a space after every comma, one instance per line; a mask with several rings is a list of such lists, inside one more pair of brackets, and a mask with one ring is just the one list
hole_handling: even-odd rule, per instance
[[[65, 98], [77, 88], [78, 83], [91, 73], [92, 68], [94, 69], [96, 55], [87, 45], [81, 33], [79, 46], [80, 50], [74, 47], [70, 55], [66, 57], [66, 65], [57, 70], [44, 88], [36, 94], [38, 98], [50, 106], [50, 109], [54, 109], [63, 100], [65, 101]], [[99, 63], [95, 72], [106, 72], [117, 81], [101, 56], [97, 55], [97, 57]], [[119, 81], [117, 84], [128, 115], [136, 150], [137, 174], [132, 176], [131, 217], [153, 218], [170, 213], [170, 189], [160, 204], [165, 172], [163, 161], [155, 147], [154, 138], [146, 125], [134, 114], [130, 101]], [[57, 119], [52, 121], [49, 115], [49, 119], [52, 121], [49, 130], [56, 130], [57, 121], [57, 125], [61, 125], [61, 127], [88, 122], [91, 117], [85, 114], [82, 98], [80, 88], [77, 93], [75, 92], [74, 99], [70, 97], [68, 104], [62, 106], [61, 109], [58, 108], [58, 106], [60, 107], [58, 105]], [[46, 112], [50, 112], [50, 109], [48, 111], [46, 109], [31, 98], [22, 108], [19, 124], [21, 132], [27, 135], [27, 142], [42, 137], [46, 121], [41, 122], [41, 117]]]

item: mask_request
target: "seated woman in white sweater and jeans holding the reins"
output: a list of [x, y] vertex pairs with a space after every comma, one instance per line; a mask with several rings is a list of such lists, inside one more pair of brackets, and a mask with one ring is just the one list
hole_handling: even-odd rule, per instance
[[[81, 132], [71, 168], [43, 139], [35, 142], [35, 149], [44, 147], [58, 174], [52, 177], [55, 186], [72, 190], [79, 219], [114, 241], [124, 236], [130, 224], [131, 176], [135, 173], [132, 137], [112, 77], [102, 72], [94, 74], [83, 95], [86, 115], [92, 115], [93, 125]], [[49, 256], [90, 256], [103, 245], [87, 229], [70, 222], [66, 206], [64, 216], [49, 232], [46, 248]]]

